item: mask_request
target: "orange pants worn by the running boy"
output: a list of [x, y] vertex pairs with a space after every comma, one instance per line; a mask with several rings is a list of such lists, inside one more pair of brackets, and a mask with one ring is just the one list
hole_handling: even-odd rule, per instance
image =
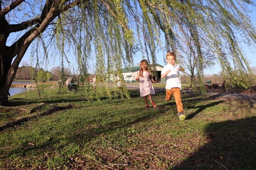
[[175, 102], [177, 105], [177, 111], [178, 114], [180, 112], [183, 112], [183, 105], [181, 102], [181, 94], [180, 94], [180, 88], [172, 88], [172, 89], [166, 89], [166, 100], [169, 101], [172, 99], [172, 94], [174, 95]]

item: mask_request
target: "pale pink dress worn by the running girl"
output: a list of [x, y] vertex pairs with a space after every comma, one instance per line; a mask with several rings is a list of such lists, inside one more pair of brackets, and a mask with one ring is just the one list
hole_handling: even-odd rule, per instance
[[147, 96], [148, 94], [155, 94], [154, 87], [151, 83], [149, 71], [143, 71], [143, 77], [140, 77], [140, 96]]

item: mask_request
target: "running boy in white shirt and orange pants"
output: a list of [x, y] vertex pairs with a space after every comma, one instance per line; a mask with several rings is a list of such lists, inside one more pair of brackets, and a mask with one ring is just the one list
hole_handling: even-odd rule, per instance
[[166, 54], [167, 65], [163, 67], [161, 71], [161, 78], [166, 77], [166, 98], [165, 101], [169, 102], [174, 94], [175, 102], [177, 105], [178, 116], [181, 121], [186, 119], [186, 115], [183, 112], [183, 105], [181, 102], [181, 83], [180, 77], [178, 77], [179, 71], [184, 71], [179, 64], [175, 64], [176, 55], [174, 52], [168, 52]]

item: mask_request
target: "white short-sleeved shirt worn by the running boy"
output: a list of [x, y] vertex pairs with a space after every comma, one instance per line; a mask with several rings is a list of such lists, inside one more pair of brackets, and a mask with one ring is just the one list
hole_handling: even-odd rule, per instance
[[181, 89], [180, 76], [179, 76], [180, 65], [179, 64], [171, 65], [168, 63], [163, 67], [161, 74], [165, 74], [166, 71], [168, 70], [171, 70], [171, 71], [166, 75], [166, 89], [172, 89], [172, 88]]

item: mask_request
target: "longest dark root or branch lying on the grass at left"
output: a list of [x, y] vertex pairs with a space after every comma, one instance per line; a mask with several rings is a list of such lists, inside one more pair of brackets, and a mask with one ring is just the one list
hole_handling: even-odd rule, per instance
[[53, 106], [52, 108], [48, 109], [47, 111], [44, 111], [42, 113], [39, 113], [37, 115], [33, 115], [33, 116], [29, 116], [29, 117], [24, 117], [24, 118], [21, 118], [21, 119], [17, 119], [17, 120], [14, 120], [14, 121], [11, 121], [11, 122], [8, 122], [2, 126], [0, 126], [0, 131], [4, 130], [5, 128], [7, 127], [11, 127], [11, 126], [15, 126], [15, 125], [18, 125], [22, 122], [26, 122], [30, 119], [34, 119], [38, 116], [44, 116], [44, 115], [48, 115], [54, 111], [61, 111], [61, 110], [65, 110], [65, 109], [69, 109], [69, 108], [73, 108], [72, 105], [67, 105], [67, 106]]

